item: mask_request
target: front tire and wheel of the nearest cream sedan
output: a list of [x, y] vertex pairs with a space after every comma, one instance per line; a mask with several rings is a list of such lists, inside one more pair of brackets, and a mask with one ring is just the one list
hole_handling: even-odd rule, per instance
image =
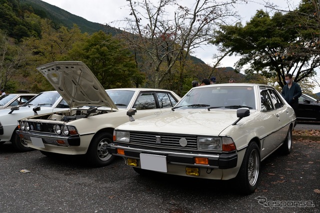
[[257, 187], [260, 170], [260, 152], [255, 142], [250, 142], [246, 148], [241, 167], [237, 174], [240, 193], [249, 195]]

